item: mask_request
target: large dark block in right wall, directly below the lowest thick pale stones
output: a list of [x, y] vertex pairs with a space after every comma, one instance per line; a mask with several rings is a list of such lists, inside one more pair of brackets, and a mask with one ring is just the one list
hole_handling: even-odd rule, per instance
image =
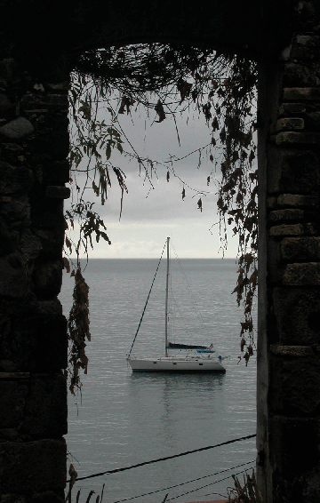
[[281, 344], [319, 343], [320, 296], [317, 288], [275, 288], [273, 311]]

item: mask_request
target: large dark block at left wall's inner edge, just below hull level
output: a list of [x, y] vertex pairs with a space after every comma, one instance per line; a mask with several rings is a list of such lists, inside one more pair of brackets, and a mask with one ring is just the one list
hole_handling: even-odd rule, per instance
[[63, 375], [33, 375], [20, 434], [58, 437], [68, 433], [67, 381]]

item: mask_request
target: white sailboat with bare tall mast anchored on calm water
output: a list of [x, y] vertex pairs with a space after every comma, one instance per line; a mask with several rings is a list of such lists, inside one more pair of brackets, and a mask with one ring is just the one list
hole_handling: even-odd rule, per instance
[[[150, 291], [148, 293], [148, 298], [143, 309], [140, 323], [138, 329], [136, 331], [135, 337], [132, 342], [132, 347], [130, 349], [129, 355], [127, 355], [127, 361], [132, 367], [132, 371], [163, 371], [163, 372], [225, 372], [226, 369], [222, 365], [222, 356], [216, 356], [215, 351], [213, 349], [213, 345], [199, 346], [195, 344], [178, 344], [172, 343], [168, 340], [168, 298], [169, 298], [169, 276], [170, 276], [170, 237], [166, 239], [166, 283], [165, 283], [165, 323], [164, 323], [164, 355], [156, 358], [137, 358], [132, 356], [132, 347], [137, 338], [138, 332], [140, 330], [140, 324], [143, 319], [143, 315], [146, 311], [146, 307], [148, 304], [148, 299], [150, 296], [150, 292], [152, 290], [153, 284], [156, 279], [156, 275], [151, 284]], [[162, 255], [161, 255], [162, 258]], [[160, 261], [161, 261], [160, 258]], [[156, 273], [160, 265], [160, 261], [156, 268]], [[175, 355], [170, 355], [169, 350], [175, 349]], [[177, 350], [179, 352], [177, 353]], [[185, 351], [185, 353], [181, 354], [181, 351]]]

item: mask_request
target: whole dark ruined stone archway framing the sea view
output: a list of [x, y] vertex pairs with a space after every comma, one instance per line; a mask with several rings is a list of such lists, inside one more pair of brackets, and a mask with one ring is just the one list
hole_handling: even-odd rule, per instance
[[210, 44], [260, 61], [260, 487], [268, 502], [319, 499], [319, 12], [316, 1], [200, 7], [1, 3], [6, 501], [58, 501], [66, 477], [60, 369], [67, 339], [56, 298], [68, 197], [68, 72], [86, 48], [148, 41]]

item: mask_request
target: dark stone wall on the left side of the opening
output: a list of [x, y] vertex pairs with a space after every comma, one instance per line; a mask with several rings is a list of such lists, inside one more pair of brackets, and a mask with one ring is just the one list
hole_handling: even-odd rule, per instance
[[0, 52], [0, 500], [55, 503], [66, 481], [62, 278], [68, 73]]

